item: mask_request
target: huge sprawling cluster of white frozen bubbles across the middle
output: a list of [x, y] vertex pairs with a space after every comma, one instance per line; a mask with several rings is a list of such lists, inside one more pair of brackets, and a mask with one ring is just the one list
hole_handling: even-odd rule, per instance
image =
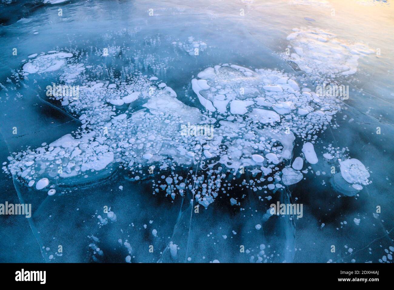
[[[55, 184], [102, 178], [116, 167], [128, 170], [132, 181], [146, 178], [149, 170], [171, 172], [162, 176], [165, 182], [153, 183], [154, 192], [175, 198], [190, 190], [206, 207], [223, 191], [223, 180], [231, 175], [235, 180], [245, 170], [253, 178], [249, 183], [241, 178], [241, 185], [253, 191], [268, 193], [301, 181], [308, 172], [304, 163], [319, 161], [318, 135], [337, 127], [333, 117], [342, 105], [337, 97], [318, 95], [293, 75], [271, 69], [232, 64], [204, 69], [191, 80], [197, 108], [180, 101], [157, 77], [135, 71], [128, 82], [91, 80], [91, 67], [59, 51], [23, 66], [23, 75], [60, 70], [60, 79], [82, 84], [77, 98], [52, 97], [81, 126], [48, 145], [14, 152], [4, 171], [49, 195], [56, 193]], [[295, 142], [302, 144], [302, 154], [291, 165]], [[323, 162], [340, 163], [340, 174], [332, 178], [336, 190], [354, 195], [370, 182], [361, 161], [329, 149]], [[177, 167], [193, 166], [198, 172], [177, 173]]]

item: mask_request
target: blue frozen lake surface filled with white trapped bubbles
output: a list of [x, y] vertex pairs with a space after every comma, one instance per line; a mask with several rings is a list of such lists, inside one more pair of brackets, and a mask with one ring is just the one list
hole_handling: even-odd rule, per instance
[[392, 262], [393, 13], [0, 0], [0, 262]]

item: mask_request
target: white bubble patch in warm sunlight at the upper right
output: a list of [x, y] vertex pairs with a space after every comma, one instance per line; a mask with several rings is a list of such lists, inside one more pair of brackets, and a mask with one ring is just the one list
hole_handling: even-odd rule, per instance
[[293, 50], [288, 60], [312, 75], [352, 75], [359, 58], [374, 53], [362, 43], [348, 44], [319, 28], [294, 28], [287, 40]]

